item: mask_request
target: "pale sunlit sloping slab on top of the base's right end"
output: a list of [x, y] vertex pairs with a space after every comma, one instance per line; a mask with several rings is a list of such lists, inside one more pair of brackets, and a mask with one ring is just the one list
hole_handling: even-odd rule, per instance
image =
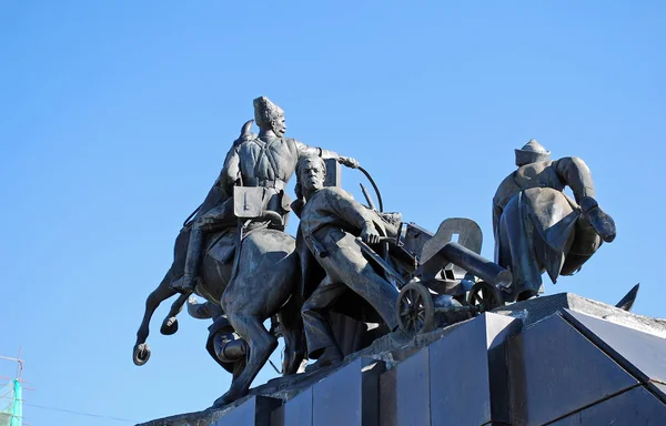
[[664, 338], [571, 310], [564, 310], [564, 318], [643, 383], [666, 382]]

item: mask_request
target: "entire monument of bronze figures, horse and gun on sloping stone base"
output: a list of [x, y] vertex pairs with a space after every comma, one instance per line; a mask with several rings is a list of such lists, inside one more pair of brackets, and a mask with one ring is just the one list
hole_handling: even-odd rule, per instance
[[[516, 150], [490, 261], [473, 220], [405, 223], [356, 160], [285, 138], [265, 97], [254, 115], [259, 133], [242, 126], [183, 224], [133, 348], [145, 364], [151, 316], [178, 295], [162, 334], [185, 303], [212, 320], [205, 347], [231, 387], [208, 410], [145, 425], [666, 424], [666, 322], [628, 312], [637, 286], [616, 306], [541, 295], [543, 273], [575, 273], [616, 235], [583, 160], [552, 161], [535, 140]], [[362, 204], [339, 186], [337, 164], [369, 176], [379, 209], [365, 187]], [[278, 338], [284, 376], [250, 389]]]

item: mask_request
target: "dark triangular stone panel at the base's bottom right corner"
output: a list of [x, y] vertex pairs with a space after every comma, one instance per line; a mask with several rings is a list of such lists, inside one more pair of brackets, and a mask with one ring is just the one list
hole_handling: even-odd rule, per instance
[[663, 426], [666, 425], [666, 405], [638, 386], [551, 425]]

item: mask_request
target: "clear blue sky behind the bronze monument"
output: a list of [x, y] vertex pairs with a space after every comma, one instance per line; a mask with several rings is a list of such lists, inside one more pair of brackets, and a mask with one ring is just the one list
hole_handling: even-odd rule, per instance
[[[486, 257], [513, 150], [536, 138], [585, 159], [618, 236], [547, 293], [614, 303], [640, 282], [635, 311], [666, 316], [663, 2], [231, 3], [0, 2], [0, 354], [23, 347], [27, 403], [147, 420], [226, 390], [209, 323], [182, 315], [162, 336], [167, 304], [150, 362], [130, 356], [173, 237], [261, 94], [289, 135], [356, 158], [405, 220], [477, 221]], [[359, 181], [345, 171], [356, 197]]]

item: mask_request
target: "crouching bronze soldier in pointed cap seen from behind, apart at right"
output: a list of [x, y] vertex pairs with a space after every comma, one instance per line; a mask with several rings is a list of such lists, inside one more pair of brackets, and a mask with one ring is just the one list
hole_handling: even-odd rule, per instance
[[[573, 275], [615, 239], [615, 222], [597, 204], [589, 169], [577, 158], [552, 161], [531, 140], [516, 151], [518, 169], [493, 199], [495, 262], [513, 274], [505, 302], [526, 300], [542, 288], [543, 272], [555, 283]], [[575, 201], [563, 191], [569, 186]]]

